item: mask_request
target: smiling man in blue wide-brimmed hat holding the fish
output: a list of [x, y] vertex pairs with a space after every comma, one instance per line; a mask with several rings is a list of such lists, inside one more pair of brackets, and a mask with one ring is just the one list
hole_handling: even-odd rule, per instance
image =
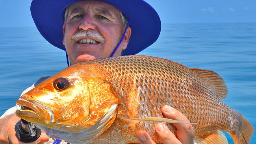
[[[143, 0], [33, 0], [31, 13], [39, 32], [51, 44], [66, 50], [71, 65], [137, 54], [156, 41], [161, 29], [158, 14]], [[39, 79], [35, 85], [43, 80]], [[15, 110], [10, 109], [1, 116], [1, 144], [22, 144], [14, 131], [20, 118], [14, 113]], [[183, 114], [169, 106], [164, 106], [162, 113], [166, 118], [189, 122]], [[156, 126], [156, 133], [165, 144], [193, 143], [191, 124], [174, 126], [177, 138], [164, 124]], [[142, 144], [154, 143], [145, 131], [139, 131], [137, 136]], [[48, 140], [49, 137], [43, 132], [33, 144]]]

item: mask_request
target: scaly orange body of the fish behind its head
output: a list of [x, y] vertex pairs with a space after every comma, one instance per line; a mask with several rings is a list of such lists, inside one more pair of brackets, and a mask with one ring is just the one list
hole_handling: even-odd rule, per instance
[[[254, 131], [252, 125], [240, 113], [220, 100], [219, 97], [226, 96], [227, 89], [223, 79], [215, 72], [205, 70], [204, 76], [199, 74], [200, 69], [145, 56], [99, 59], [91, 63], [98, 63], [111, 74], [108, 81], [125, 105], [119, 107], [119, 113], [132, 118], [162, 117], [161, 108], [170, 105], [183, 113], [191, 123], [196, 123], [193, 124], [195, 140], [207, 138], [220, 129], [230, 133], [236, 144], [250, 141]], [[214, 78], [206, 79], [208, 73]], [[220, 87], [218, 91], [212, 83], [217, 83], [215, 87]], [[144, 121], [124, 127], [126, 122], [117, 118], [94, 142], [138, 143], [136, 132], [145, 130], [156, 143], [161, 143], [154, 131], [156, 124], [157, 122]], [[175, 134], [175, 127], [172, 124], [167, 126]], [[241, 138], [241, 130], [246, 131], [245, 133], [248, 131], [249, 138]], [[213, 137], [214, 141], [210, 143], [217, 142], [216, 138], [217, 136]], [[224, 141], [220, 140], [219, 143]]]

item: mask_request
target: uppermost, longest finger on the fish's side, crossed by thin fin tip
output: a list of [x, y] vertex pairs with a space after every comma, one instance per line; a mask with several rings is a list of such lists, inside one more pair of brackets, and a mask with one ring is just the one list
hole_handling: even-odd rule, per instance
[[[162, 113], [166, 118], [189, 122], [186, 116], [168, 105], [165, 105], [163, 107]], [[193, 144], [195, 133], [191, 124], [174, 123], [173, 125], [177, 128], [176, 135], [180, 139], [182, 144]]]

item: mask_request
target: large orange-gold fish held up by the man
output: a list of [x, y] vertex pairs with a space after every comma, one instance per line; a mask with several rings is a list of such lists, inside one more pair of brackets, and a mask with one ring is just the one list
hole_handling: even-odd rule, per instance
[[154, 127], [164, 123], [176, 135], [161, 108], [184, 114], [198, 144], [248, 144], [254, 127], [222, 99], [224, 80], [211, 70], [189, 68], [158, 57], [130, 55], [69, 66], [22, 95], [16, 115], [52, 138], [77, 143], [139, 143], [145, 130], [162, 143]]

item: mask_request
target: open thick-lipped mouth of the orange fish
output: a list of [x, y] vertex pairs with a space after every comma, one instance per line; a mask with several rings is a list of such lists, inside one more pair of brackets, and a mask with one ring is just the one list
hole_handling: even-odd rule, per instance
[[41, 103], [19, 98], [16, 102], [21, 106], [21, 109], [16, 110], [16, 115], [29, 122], [35, 122], [39, 124], [49, 124], [54, 121], [54, 113], [50, 109]]

